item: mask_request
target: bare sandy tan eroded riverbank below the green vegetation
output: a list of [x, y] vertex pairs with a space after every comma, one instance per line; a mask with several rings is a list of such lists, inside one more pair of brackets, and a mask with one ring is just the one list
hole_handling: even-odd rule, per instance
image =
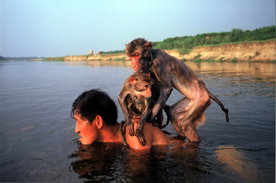
[[[275, 39], [258, 42], [231, 43], [223, 45], [194, 47], [188, 54], [180, 54], [180, 50], [164, 50], [166, 53], [182, 61], [249, 61], [273, 62], [275, 61]], [[72, 55], [65, 57], [51, 57], [48, 61], [93, 61], [93, 60], [130, 60], [125, 54], [93, 54]]]

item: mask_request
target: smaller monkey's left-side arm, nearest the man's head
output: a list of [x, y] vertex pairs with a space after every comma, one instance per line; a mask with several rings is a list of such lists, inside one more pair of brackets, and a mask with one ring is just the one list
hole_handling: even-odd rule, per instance
[[133, 127], [133, 122], [132, 120], [130, 119], [130, 115], [129, 115], [129, 112], [128, 112], [128, 105], [126, 104], [126, 101], [125, 101], [125, 98], [128, 96], [128, 90], [126, 89], [125, 85], [123, 87], [123, 89], [121, 90], [120, 92], [120, 95], [118, 96], [118, 102], [121, 106], [121, 109], [125, 115], [125, 120], [126, 120], [126, 123], [127, 123], [127, 131], [128, 131], [128, 134], [130, 136], [133, 136], [135, 131], [134, 131], [134, 127]]

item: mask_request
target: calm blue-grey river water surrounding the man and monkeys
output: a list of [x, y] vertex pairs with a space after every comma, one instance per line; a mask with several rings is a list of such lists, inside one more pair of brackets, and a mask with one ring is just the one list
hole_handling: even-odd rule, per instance
[[[140, 152], [83, 146], [70, 118], [85, 90], [117, 102], [130, 62], [0, 62], [0, 182], [275, 182], [275, 64], [186, 64], [229, 109], [229, 124], [213, 101], [199, 144]], [[182, 97], [174, 90], [167, 104]]]

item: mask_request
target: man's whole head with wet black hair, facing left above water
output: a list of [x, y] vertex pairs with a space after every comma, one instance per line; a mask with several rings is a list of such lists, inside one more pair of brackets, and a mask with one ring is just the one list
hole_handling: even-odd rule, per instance
[[[102, 129], [117, 124], [117, 106], [102, 90], [83, 92], [72, 105], [71, 117], [76, 120], [75, 132], [82, 144], [102, 142]], [[106, 134], [105, 134], [106, 135]]]

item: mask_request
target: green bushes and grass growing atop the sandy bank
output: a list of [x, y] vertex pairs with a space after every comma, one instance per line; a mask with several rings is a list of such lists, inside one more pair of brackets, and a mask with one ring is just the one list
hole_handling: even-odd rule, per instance
[[[197, 34], [196, 36], [182, 36], [167, 38], [159, 42], [151, 42], [155, 49], [170, 50], [182, 49], [182, 54], [189, 53], [189, 50], [201, 45], [216, 45], [223, 43], [236, 43], [243, 41], [262, 41], [275, 39], [275, 25], [264, 26], [255, 30], [232, 29], [229, 32], [211, 32]], [[103, 54], [124, 53], [125, 50], [102, 51]]]

